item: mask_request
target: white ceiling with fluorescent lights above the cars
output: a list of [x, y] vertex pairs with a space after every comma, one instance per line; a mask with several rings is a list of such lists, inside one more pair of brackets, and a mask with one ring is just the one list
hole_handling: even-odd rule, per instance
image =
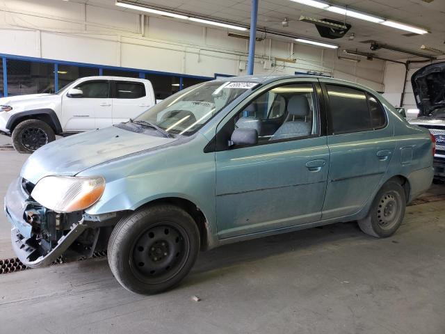
[[[195, 13], [234, 23], [250, 24], [251, 0], [139, 0], [136, 2], [191, 14]], [[348, 40], [348, 38], [336, 40], [321, 38], [314, 24], [298, 21], [300, 15], [318, 19], [337, 19], [339, 21], [343, 21], [344, 16], [289, 0], [259, 0], [258, 26], [259, 28], [265, 27], [266, 29], [300, 35], [315, 40], [333, 42], [340, 45], [343, 49], [358, 49], [364, 52], [371, 52], [369, 43], [362, 43], [365, 40], [376, 40], [380, 43], [394, 45], [403, 49], [412, 49], [418, 52], [423, 52], [420, 49], [422, 44], [445, 50], [445, 0], [433, 0], [430, 3], [422, 0], [339, 0], [334, 3], [350, 6], [364, 13], [375, 14], [405, 24], [423, 27], [431, 31], [431, 33], [407, 37], [405, 36], [408, 33], [407, 31], [347, 17], [346, 23], [352, 25], [348, 35], [351, 33], [355, 34], [353, 41]], [[290, 20], [289, 26], [286, 28], [282, 27], [281, 24], [284, 17]], [[428, 54], [428, 52], [425, 53]], [[407, 54], [400, 54], [385, 49], [375, 51], [375, 54], [392, 59], [410, 57]]]

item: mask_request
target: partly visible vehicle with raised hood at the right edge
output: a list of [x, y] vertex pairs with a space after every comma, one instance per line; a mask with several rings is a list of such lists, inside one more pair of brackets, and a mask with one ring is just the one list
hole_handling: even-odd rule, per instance
[[445, 62], [432, 63], [412, 74], [419, 115], [409, 120], [430, 131], [436, 141], [435, 178], [445, 180]]

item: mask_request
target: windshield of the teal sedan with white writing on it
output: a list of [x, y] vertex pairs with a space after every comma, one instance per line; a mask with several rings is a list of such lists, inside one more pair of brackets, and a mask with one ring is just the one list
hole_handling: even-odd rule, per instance
[[147, 122], [168, 134], [190, 136], [227, 104], [257, 83], [209, 81], [181, 90], [138, 116], [134, 122]]

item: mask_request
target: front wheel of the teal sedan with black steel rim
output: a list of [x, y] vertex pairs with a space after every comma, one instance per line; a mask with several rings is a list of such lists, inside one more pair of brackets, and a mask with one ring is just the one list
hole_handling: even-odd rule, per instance
[[108, 241], [108, 264], [125, 289], [156, 294], [188, 274], [199, 249], [200, 233], [193, 218], [174, 205], [156, 205], [115, 226]]

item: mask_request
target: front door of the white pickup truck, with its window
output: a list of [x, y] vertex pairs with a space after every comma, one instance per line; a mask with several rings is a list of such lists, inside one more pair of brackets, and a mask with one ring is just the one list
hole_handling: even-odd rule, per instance
[[112, 125], [110, 81], [82, 81], [72, 88], [82, 90], [81, 96], [69, 94], [62, 98], [63, 132], [79, 132]]

